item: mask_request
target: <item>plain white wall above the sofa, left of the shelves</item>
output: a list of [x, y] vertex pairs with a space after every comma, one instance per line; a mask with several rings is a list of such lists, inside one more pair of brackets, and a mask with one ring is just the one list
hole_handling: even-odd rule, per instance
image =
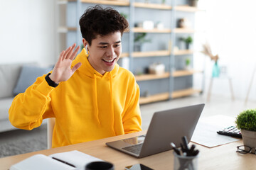
[[0, 0], [0, 64], [53, 64], [54, 20], [53, 0]]

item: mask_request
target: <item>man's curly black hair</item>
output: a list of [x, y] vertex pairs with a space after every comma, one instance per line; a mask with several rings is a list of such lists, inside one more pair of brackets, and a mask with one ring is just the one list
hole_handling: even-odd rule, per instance
[[119, 31], [121, 35], [127, 30], [129, 23], [114, 8], [102, 8], [100, 5], [87, 8], [80, 17], [80, 30], [82, 38], [92, 44], [97, 35], [108, 35]]

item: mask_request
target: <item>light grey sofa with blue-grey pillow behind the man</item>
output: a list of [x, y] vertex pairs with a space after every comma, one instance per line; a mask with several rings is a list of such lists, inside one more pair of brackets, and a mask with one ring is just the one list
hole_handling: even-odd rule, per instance
[[[24, 68], [24, 66], [26, 66], [26, 68]], [[16, 89], [16, 91], [23, 92], [28, 84], [31, 85], [36, 81], [36, 77], [46, 74], [50, 69], [52, 69], [52, 66], [39, 67], [36, 64], [0, 64], [0, 132], [16, 129], [9, 122], [9, 108], [14, 100], [14, 90]], [[28, 80], [28, 77], [30, 77], [31, 80]], [[24, 84], [21, 78], [28, 84]], [[16, 93], [18, 94], [18, 92]], [[44, 123], [46, 123], [46, 121], [44, 121]]]

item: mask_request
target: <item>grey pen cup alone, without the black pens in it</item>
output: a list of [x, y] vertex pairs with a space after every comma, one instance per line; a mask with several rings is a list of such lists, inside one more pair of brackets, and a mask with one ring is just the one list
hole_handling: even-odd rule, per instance
[[197, 170], [198, 155], [186, 157], [174, 152], [174, 170]]

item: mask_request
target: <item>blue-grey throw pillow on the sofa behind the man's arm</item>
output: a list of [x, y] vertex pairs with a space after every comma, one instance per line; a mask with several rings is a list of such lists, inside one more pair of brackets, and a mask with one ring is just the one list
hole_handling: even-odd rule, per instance
[[21, 74], [18, 77], [18, 83], [14, 88], [14, 95], [24, 93], [28, 86], [31, 86], [36, 78], [47, 74], [53, 69], [53, 67], [38, 67], [33, 65], [23, 65]]

